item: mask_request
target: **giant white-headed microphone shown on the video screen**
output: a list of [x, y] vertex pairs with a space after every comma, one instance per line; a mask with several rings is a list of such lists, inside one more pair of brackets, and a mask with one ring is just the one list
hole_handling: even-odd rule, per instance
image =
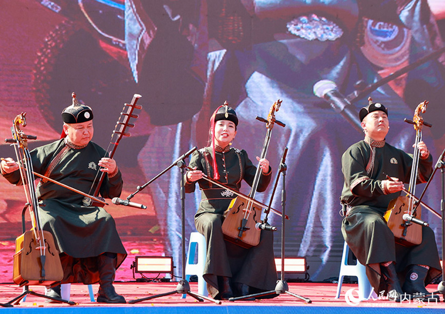
[[358, 113], [353, 105], [338, 91], [337, 85], [333, 81], [321, 80], [314, 84], [313, 93], [315, 96], [329, 101], [331, 107], [339, 112], [358, 132], [362, 132]]

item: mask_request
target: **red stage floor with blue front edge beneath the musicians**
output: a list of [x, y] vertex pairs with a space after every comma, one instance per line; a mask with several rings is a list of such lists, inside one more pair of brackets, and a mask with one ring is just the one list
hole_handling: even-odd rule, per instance
[[[157, 295], [176, 290], [176, 282], [169, 283], [139, 283], [125, 282], [116, 283], [116, 291], [123, 294], [127, 301], [145, 298], [151, 295]], [[192, 291], [197, 291], [197, 283], [191, 282]], [[44, 287], [32, 286], [33, 291], [44, 293]], [[98, 285], [93, 285], [94, 293], [97, 292]], [[333, 283], [289, 283], [289, 291], [300, 296], [311, 299], [312, 303], [307, 304], [304, 301], [293, 296], [282, 294], [274, 299], [256, 300], [256, 301], [223, 301], [221, 305], [204, 301], [198, 302], [187, 296], [181, 298], [180, 294], [173, 294], [166, 297], [160, 297], [135, 304], [103, 304], [89, 301], [88, 287], [82, 284], [71, 285], [71, 301], [75, 305], [66, 304], [48, 304], [45, 299], [28, 295], [25, 302], [15, 305], [13, 308], [1, 308], [1, 313], [26, 313], [34, 314], [45, 313], [75, 313], [75, 314], [139, 314], [141, 311], [150, 311], [153, 314], [167, 313], [212, 313], [212, 314], [250, 314], [250, 313], [307, 313], [319, 314], [332, 311], [342, 311], [342, 313], [367, 313], [375, 311], [378, 308], [379, 313], [394, 313], [395, 310], [400, 314], [411, 313], [413, 308], [422, 308], [425, 313], [439, 313], [445, 309], [445, 303], [419, 303], [403, 302], [395, 303], [388, 300], [363, 301], [360, 303], [347, 303], [345, 294], [350, 289], [357, 289], [356, 284], [343, 284], [339, 299], [335, 299], [337, 285]], [[435, 291], [436, 285], [429, 285], [429, 291]], [[0, 303], [7, 303], [9, 300], [22, 293], [22, 288], [14, 284], [0, 285]], [[357, 292], [353, 295], [357, 297]], [[261, 308], [258, 308], [261, 307]]]

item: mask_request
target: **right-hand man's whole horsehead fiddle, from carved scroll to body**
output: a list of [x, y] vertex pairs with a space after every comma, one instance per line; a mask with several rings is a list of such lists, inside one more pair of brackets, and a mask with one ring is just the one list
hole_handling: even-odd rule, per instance
[[[423, 121], [420, 116], [421, 113], [425, 113], [428, 101], [421, 102], [414, 110], [414, 117], [411, 120], [405, 119], [404, 121], [412, 124], [416, 130], [416, 140], [414, 143], [414, 153], [412, 157], [411, 176], [409, 178], [408, 190], [406, 196], [399, 196], [393, 199], [388, 205], [384, 218], [388, 224], [388, 227], [393, 231], [396, 242], [404, 246], [418, 245], [422, 243], [422, 225], [412, 224], [409, 222], [409, 218], [415, 218], [420, 221], [421, 211], [416, 211], [416, 197], [414, 196], [416, 181], [418, 178], [418, 168], [420, 160], [420, 150], [417, 144], [422, 141], [422, 127], [425, 125], [431, 127], [430, 124]], [[391, 179], [387, 176], [387, 179]], [[428, 225], [424, 223], [423, 225]]]

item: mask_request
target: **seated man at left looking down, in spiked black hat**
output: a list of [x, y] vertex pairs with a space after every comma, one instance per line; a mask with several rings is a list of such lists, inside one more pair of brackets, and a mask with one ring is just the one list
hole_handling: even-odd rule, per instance
[[[104, 198], [119, 197], [122, 175], [108, 153], [91, 141], [92, 119], [91, 108], [79, 104], [73, 93], [73, 104], [62, 112], [63, 137], [30, 152], [34, 172], [90, 194], [102, 167], [100, 171], [107, 175], [100, 194]], [[21, 183], [14, 160], [2, 160], [0, 168], [9, 182]], [[53, 234], [60, 252], [64, 273], [61, 283], [99, 282], [97, 302], [125, 303], [113, 281], [127, 252], [110, 214], [102, 207], [90, 206], [82, 195], [45, 179], [39, 181], [36, 190], [42, 228]], [[46, 295], [61, 299], [60, 285], [49, 288]]]

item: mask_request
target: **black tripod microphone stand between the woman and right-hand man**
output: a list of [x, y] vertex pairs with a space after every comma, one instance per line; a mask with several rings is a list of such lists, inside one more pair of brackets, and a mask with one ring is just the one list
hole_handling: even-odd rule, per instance
[[[276, 186], [278, 184], [278, 180], [280, 179], [280, 174], [282, 174], [282, 182], [283, 182], [283, 187], [281, 189], [281, 207], [282, 207], [282, 215], [281, 215], [281, 273], [280, 273], [280, 280], [278, 280], [276, 282], [275, 285], [275, 290], [270, 290], [270, 291], [266, 291], [266, 292], [261, 292], [261, 293], [256, 293], [256, 294], [250, 294], [250, 295], [246, 295], [246, 296], [242, 296], [242, 297], [236, 297], [236, 298], [229, 298], [229, 301], [238, 301], [238, 300], [245, 300], [245, 299], [249, 299], [249, 298], [256, 298], [256, 297], [262, 297], [262, 296], [267, 296], [267, 295], [271, 295], [271, 294], [288, 294], [291, 295], [295, 298], [301, 299], [303, 301], [305, 301], [306, 303], [312, 303], [312, 300], [306, 297], [302, 297], [298, 294], [292, 293], [289, 291], [289, 285], [287, 284], [286, 280], [284, 280], [284, 234], [285, 234], [285, 219], [284, 217], [285, 215], [285, 209], [286, 209], [286, 185], [285, 185], [285, 181], [286, 181], [286, 170], [287, 170], [287, 165], [285, 164], [285, 159], [286, 159], [286, 154], [287, 154], [287, 150], [288, 148], [286, 147], [284, 149], [284, 153], [283, 156], [281, 158], [281, 162], [280, 162], [280, 166], [278, 169], [278, 174], [276, 176], [275, 179], [275, 184], [273, 186], [273, 192], [270, 198], [270, 203], [272, 202], [272, 198], [273, 195], [275, 193], [275, 189]], [[270, 204], [269, 204], [270, 207]], [[264, 219], [264, 223], [267, 222], [267, 214], [268, 211], [266, 211], [266, 218]]]

